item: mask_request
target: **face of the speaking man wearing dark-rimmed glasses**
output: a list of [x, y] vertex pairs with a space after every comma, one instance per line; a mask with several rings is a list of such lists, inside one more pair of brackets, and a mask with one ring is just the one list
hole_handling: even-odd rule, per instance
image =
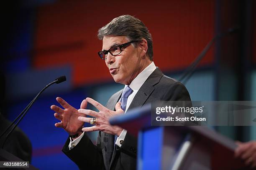
[[[108, 50], [114, 45], [121, 45], [129, 41], [125, 36], [105, 36], [103, 37], [102, 50]], [[142, 50], [139, 45], [134, 47], [130, 44], [121, 50], [122, 52], [116, 56], [108, 53], [105, 62], [115, 82], [129, 85], [144, 69], [145, 57], [142, 57]]]

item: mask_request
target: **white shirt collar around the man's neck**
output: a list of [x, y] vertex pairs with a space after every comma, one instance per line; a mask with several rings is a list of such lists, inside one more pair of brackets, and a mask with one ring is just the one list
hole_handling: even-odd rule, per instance
[[[139, 90], [141, 88], [141, 86], [143, 85], [143, 83], [147, 80], [147, 78], [152, 74], [152, 72], [154, 72], [154, 70], [156, 70], [156, 65], [154, 64], [154, 62], [151, 62], [151, 64], [148, 65], [148, 67], [146, 67], [144, 70], [142, 70], [142, 72], [140, 72], [137, 75], [137, 77], [135, 77], [135, 79], [133, 79], [133, 81], [131, 82], [129, 87], [131, 87], [131, 89], [133, 91]], [[125, 86], [127, 86], [127, 85], [125, 85]]]

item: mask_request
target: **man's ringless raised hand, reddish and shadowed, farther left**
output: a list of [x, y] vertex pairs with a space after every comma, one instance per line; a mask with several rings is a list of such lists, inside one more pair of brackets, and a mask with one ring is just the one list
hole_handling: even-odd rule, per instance
[[[55, 123], [57, 128], [63, 128], [69, 135], [82, 134], [81, 129], [84, 125], [84, 122], [78, 120], [78, 117], [85, 117], [84, 114], [81, 114], [77, 111], [76, 108], [69, 105], [61, 97], [56, 98], [57, 102], [64, 108], [61, 109], [59, 106], [51, 105], [51, 110], [54, 110], [54, 117], [61, 122]], [[87, 107], [87, 101], [83, 100], [80, 106], [82, 109]]]

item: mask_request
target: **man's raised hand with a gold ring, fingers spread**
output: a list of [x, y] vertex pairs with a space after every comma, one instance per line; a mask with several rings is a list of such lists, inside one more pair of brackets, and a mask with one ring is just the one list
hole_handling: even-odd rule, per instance
[[[78, 110], [78, 112], [82, 113], [82, 115], [90, 115], [90, 116], [93, 116], [96, 118], [96, 125], [94, 125], [92, 127], [83, 128], [82, 130], [84, 132], [100, 130], [105, 133], [119, 136], [120, 133], [123, 131], [123, 128], [121, 128], [119, 126], [110, 125], [109, 118], [112, 116], [120, 115], [120, 114], [124, 113], [124, 111], [120, 107], [121, 103], [118, 102], [115, 105], [116, 111], [113, 111], [113, 110], [109, 110], [107, 107], [104, 107], [103, 105], [101, 105], [99, 102], [93, 100], [92, 98], [87, 97], [85, 100], [87, 102], [91, 103], [92, 105], [94, 105], [99, 110], [99, 112], [95, 112], [93, 110], [87, 110], [87, 109], [79, 109]], [[78, 117], [78, 120], [88, 122], [88, 123], [90, 123], [91, 119], [92, 118], [84, 117], [84, 116]]]

